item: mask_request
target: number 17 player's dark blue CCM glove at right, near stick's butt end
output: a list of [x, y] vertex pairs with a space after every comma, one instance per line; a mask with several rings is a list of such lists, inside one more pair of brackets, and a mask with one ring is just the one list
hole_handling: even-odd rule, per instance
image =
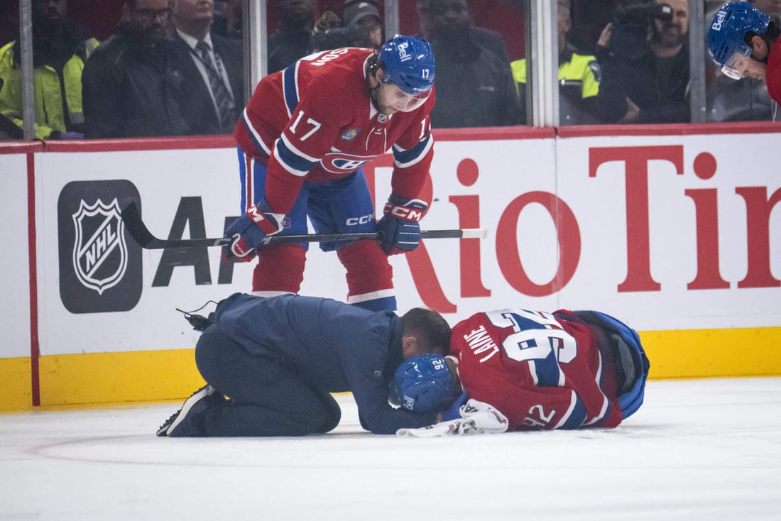
[[391, 195], [385, 203], [383, 218], [377, 222], [380, 248], [387, 255], [411, 252], [420, 243], [419, 220], [426, 212], [425, 202]]

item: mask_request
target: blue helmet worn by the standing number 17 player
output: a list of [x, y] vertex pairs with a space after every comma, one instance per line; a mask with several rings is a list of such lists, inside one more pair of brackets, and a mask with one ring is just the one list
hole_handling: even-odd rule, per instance
[[434, 55], [423, 38], [397, 34], [380, 48], [385, 81], [410, 95], [422, 95], [434, 84]]

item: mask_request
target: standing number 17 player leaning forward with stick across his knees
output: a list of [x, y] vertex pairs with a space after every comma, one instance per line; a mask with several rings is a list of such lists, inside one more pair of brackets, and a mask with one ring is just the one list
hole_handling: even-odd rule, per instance
[[[419, 244], [429, 204], [434, 59], [428, 42], [396, 36], [379, 52], [338, 48], [264, 77], [241, 115], [238, 143], [243, 215], [226, 230], [231, 260], [258, 256], [252, 293], [297, 293], [307, 244], [261, 246], [272, 234], [380, 232], [380, 241], [321, 244], [347, 270], [348, 302], [396, 309], [387, 255]], [[391, 194], [383, 217], [362, 166], [392, 150]], [[378, 244], [379, 243], [379, 244]]]

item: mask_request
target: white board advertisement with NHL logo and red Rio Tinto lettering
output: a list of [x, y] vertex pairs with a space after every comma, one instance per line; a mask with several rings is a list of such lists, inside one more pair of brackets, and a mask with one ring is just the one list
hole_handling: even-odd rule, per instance
[[[425, 305], [455, 323], [488, 309], [600, 309], [637, 330], [778, 327], [777, 143], [437, 138], [421, 227], [488, 234], [394, 256], [399, 311]], [[378, 212], [392, 169], [391, 155], [365, 166]], [[177, 309], [250, 291], [254, 262], [223, 262], [219, 248], [144, 250], [119, 216], [134, 199], [157, 237], [222, 237], [240, 210], [233, 148], [47, 152], [35, 174], [42, 355], [192, 348]], [[310, 245], [301, 293], [346, 298], [337, 255]]]

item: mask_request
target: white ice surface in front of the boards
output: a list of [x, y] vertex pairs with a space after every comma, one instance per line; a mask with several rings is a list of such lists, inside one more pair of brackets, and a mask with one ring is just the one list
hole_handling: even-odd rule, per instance
[[0, 415], [0, 519], [781, 519], [781, 378], [651, 381], [612, 430], [155, 437], [179, 403]]

